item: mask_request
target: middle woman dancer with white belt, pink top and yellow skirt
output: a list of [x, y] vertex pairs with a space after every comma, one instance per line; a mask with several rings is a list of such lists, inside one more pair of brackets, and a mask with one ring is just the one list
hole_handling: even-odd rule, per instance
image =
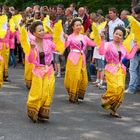
[[65, 46], [70, 46], [65, 73], [65, 87], [69, 94], [69, 101], [75, 103], [78, 99], [84, 99], [88, 83], [86, 60], [84, 51], [87, 46], [95, 46], [95, 43], [86, 35], [82, 35], [82, 20], [75, 18], [71, 22], [73, 33], [67, 37]]

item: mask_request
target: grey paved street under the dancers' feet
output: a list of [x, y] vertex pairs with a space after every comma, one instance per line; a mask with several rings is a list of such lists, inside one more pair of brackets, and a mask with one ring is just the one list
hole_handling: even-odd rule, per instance
[[49, 122], [32, 123], [23, 68], [9, 73], [12, 82], [0, 90], [0, 140], [140, 140], [140, 93], [126, 95], [119, 109], [123, 118], [115, 119], [100, 107], [102, 90], [89, 84], [84, 102], [70, 104], [63, 78], [56, 79]]

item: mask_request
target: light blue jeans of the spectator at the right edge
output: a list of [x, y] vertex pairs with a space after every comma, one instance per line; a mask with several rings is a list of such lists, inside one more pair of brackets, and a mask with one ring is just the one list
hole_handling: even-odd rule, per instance
[[140, 54], [135, 54], [135, 57], [130, 60], [130, 81], [128, 90], [136, 92], [140, 90]]

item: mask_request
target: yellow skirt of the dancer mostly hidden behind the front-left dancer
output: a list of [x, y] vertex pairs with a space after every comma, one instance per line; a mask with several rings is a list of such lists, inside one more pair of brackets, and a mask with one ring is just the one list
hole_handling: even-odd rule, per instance
[[27, 60], [25, 60], [25, 69], [24, 69], [24, 79], [28, 89], [31, 87], [32, 83], [32, 69], [34, 65], [30, 64]]

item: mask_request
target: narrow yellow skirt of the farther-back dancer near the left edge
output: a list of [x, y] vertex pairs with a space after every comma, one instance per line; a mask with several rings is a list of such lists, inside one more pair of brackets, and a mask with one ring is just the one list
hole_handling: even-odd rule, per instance
[[6, 44], [3, 43], [3, 47], [2, 47], [2, 57], [4, 59], [4, 73], [3, 73], [3, 77], [4, 79], [7, 79], [8, 78], [8, 62], [9, 62], [9, 53], [10, 53], [10, 50], [9, 48], [7, 48]]

